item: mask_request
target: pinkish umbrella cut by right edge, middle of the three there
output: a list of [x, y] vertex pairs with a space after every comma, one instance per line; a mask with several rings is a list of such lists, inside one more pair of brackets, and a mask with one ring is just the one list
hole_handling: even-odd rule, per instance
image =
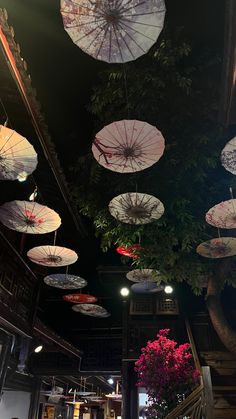
[[236, 199], [212, 207], [206, 213], [206, 222], [217, 228], [236, 228]]

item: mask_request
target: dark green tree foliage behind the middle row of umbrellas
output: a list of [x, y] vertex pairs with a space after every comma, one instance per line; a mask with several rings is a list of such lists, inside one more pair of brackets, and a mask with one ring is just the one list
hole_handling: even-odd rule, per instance
[[[217, 236], [206, 225], [205, 212], [228, 199], [229, 184], [235, 184], [219, 161], [226, 143], [217, 123], [219, 74], [217, 54], [191, 47], [180, 31], [164, 33], [135, 62], [108, 66], [89, 106], [96, 131], [121, 119], [144, 120], [162, 131], [165, 153], [157, 164], [135, 174], [106, 170], [91, 154], [73, 168], [80, 179], [74, 197], [80, 211], [92, 218], [102, 249], [141, 239], [138, 266], [160, 270], [163, 281], [186, 280], [195, 292], [199, 275], [215, 266], [195, 252], [200, 242]], [[114, 196], [135, 190], [164, 203], [160, 220], [133, 226], [109, 214]]]

